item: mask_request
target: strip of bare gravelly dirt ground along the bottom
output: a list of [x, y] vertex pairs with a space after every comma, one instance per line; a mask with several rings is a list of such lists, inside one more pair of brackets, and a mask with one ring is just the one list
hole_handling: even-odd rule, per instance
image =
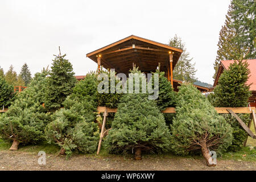
[[255, 162], [218, 160], [216, 167], [207, 167], [203, 159], [151, 158], [125, 159], [123, 156], [47, 155], [46, 165], [38, 164], [36, 154], [17, 151], [0, 151], [0, 170], [254, 170]]

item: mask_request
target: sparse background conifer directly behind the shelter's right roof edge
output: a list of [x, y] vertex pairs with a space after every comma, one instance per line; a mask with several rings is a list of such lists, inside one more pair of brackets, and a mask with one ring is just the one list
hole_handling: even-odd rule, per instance
[[187, 52], [187, 49], [185, 48], [185, 43], [182, 42], [181, 38], [175, 35], [174, 38], [170, 40], [169, 46], [183, 49], [180, 59], [177, 61], [174, 68], [174, 78], [177, 80], [186, 80], [192, 83], [195, 82], [195, 63], [191, 63], [193, 58], [189, 58], [189, 52]]

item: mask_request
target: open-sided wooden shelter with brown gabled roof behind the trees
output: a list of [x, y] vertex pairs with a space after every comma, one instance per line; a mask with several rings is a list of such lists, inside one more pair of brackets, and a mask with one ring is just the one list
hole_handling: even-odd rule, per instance
[[98, 69], [115, 69], [117, 73], [129, 74], [135, 64], [144, 73], [155, 71], [160, 63], [160, 71], [173, 85], [172, 71], [179, 60], [182, 49], [131, 35], [108, 46], [86, 54], [98, 64]]

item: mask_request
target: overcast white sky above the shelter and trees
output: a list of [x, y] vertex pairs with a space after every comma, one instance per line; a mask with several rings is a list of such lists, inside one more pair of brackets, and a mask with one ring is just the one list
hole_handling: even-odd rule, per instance
[[26, 62], [34, 75], [67, 53], [76, 75], [96, 70], [86, 53], [130, 35], [168, 43], [175, 34], [196, 63], [196, 77], [213, 84], [218, 33], [230, 0], [0, 1], [0, 67]]

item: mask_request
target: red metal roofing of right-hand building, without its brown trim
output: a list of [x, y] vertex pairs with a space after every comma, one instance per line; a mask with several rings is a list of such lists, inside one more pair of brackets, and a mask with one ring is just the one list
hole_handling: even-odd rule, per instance
[[[246, 84], [251, 84], [250, 90], [256, 90], [256, 59], [249, 59], [249, 60], [243, 60], [247, 61], [249, 64], [249, 69], [251, 71], [249, 75], [249, 79], [247, 80]], [[221, 64], [223, 65], [224, 69], [228, 69], [229, 65], [234, 63], [234, 60], [223, 60], [221, 61]]]

